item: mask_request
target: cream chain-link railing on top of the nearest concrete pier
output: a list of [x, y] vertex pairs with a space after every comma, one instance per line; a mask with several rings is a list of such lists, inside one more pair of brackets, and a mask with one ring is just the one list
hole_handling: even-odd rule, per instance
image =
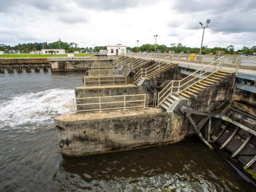
[[73, 99], [75, 113], [146, 107], [146, 94]]

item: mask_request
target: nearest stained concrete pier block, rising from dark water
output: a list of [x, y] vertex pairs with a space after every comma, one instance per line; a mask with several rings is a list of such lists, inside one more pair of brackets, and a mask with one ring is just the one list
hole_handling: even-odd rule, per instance
[[66, 156], [173, 143], [179, 127], [177, 117], [161, 108], [70, 113], [56, 117], [55, 122], [61, 153]]

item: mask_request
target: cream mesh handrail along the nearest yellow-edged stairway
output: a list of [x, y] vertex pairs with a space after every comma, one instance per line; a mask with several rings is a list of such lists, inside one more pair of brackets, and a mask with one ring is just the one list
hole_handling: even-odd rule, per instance
[[201, 67], [182, 80], [172, 80], [158, 93], [157, 105], [160, 105], [169, 94], [179, 94], [194, 84], [221, 70], [223, 59], [224, 57], [220, 57], [219, 59], [211, 62], [209, 65]]

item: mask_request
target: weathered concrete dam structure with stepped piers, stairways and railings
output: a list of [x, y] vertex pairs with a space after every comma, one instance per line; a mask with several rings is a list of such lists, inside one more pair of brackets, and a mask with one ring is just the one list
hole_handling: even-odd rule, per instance
[[[74, 113], [55, 118], [61, 153], [89, 156], [198, 136], [209, 148], [217, 142], [230, 150], [244, 169], [255, 168], [255, 103], [238, 97], [254, 97], [255, 68], [237, 66], [236, 58], [210, 59], [125, 54], [92, 62], [75, 88]], [[242, 81], [249, 87], [235, 87]]]

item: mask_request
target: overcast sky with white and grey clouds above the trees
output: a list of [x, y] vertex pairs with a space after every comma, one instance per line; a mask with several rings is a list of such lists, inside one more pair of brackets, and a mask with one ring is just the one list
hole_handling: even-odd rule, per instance
[[0, 0], [0, 43], [75, 42], [200, 47], [235, 50], [256, 46], [256, 0]]

